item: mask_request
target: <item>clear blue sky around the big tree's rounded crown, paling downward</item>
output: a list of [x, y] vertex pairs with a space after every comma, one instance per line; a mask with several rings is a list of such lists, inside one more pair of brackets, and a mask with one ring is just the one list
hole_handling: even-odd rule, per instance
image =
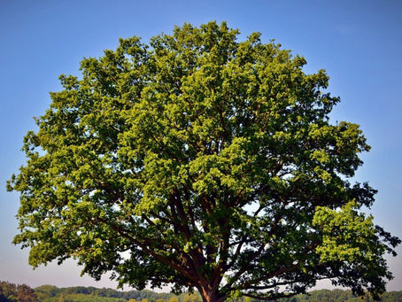
[[[32, 286], [115, 284], [80, 278], [72, 261], [35, 271], [27, 251], [11, 244], [17, 233], [17, 194], [5, 182], [24, 162], [22, 137], [35, 129], [32, 117], [50, 105], [59, 74], [79, 75], [83, 57], [114, 49], [119, 37], [171, 33], [174, 25], [226, 20], [242, 36], [262, 33], [305, 56], [306, 72], [324, 68], [329, 91], [342, 102], [334, 120], [359, 123], [372, 145], [356, 180], [379, 190], [375, 222], [402, 237], [402, 2], [354, 1], [0, 1], [0, 280]], [[402, 248], [389, 265], [389, 290], [402, 290]]]

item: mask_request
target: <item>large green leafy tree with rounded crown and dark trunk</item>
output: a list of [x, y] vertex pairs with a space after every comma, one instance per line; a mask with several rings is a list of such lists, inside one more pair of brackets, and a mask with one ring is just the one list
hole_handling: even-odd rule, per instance
[[205, 301], [288, 297], [317, 280], [382, 292], [399, 239], [347, 181], [369, 146], [331, 123], [324, 71], [259, 34], [185, 24], [84, 58], [27, 133], [19, 235], [29, 263], [77, 259], [135, 288]]

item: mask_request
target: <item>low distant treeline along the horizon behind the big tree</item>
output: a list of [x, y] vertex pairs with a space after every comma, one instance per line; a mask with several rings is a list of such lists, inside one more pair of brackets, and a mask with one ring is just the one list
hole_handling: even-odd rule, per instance
[[[112, 290], [96, 287], [66, 287], [42, 285], [35, 289], [26, 284], [15, 285], [0, 282], [0, 302], [201, 302], [200, 295], [182, 293], [179, 296], [169, 293], [158, 293], [151, 290]], [[401, 291], [390, 291], [383, 294], [382, 302], [401, 302]], [[232, 302], [257, 302], [252, 298], [236, 298]], [[282, 298], [278, 302], [374, 302], [367, 296], [356, 297], [351, 290], [313, 290], [305, 295]]]

